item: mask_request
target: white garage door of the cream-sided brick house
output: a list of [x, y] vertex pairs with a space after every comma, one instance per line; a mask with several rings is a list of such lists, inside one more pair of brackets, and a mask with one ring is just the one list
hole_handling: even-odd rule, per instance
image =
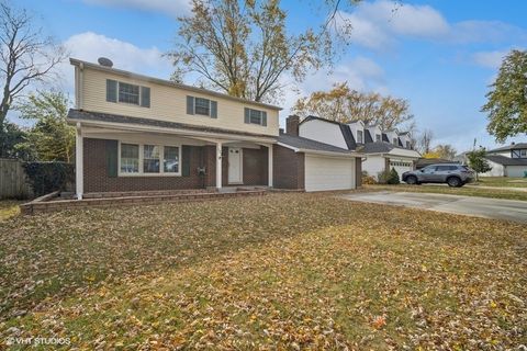
[[355, 188], [355, 158], [305, 156], [305, 191]]

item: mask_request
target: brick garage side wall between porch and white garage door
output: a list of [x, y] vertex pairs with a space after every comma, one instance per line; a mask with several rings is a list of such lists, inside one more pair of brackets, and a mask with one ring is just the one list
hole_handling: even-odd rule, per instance
[[294, 152], [283, 146], [274, 145], [272, 149], [273, 185], [278, 189], [305, 188], [305, 155]]

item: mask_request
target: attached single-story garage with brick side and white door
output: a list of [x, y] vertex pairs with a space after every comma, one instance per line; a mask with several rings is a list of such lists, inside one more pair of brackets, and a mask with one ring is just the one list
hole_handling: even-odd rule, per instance
[[273, 186], [305, 191], [356, 189], [360, 186], [361, 159], [362, 154], [281, 134], [273, 147]]

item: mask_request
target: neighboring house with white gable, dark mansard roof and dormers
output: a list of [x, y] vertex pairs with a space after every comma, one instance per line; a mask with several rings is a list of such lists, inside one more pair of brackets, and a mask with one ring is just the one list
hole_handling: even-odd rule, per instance
[[307, 116], [300, 123], [299, 135], [365, 154], [362, 170], [373, 177], [392, 168], [401, 177], [403, 172], [415, 169], [421, 157], [412, 149], [408, 133], [381, 131], [379, 126], [365, 125], [361, 121], [344, 124]]

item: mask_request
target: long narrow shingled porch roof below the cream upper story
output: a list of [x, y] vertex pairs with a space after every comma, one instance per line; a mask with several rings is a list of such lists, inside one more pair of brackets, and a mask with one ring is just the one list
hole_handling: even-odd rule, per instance
[[126, 126], [156, 127], [161, 129], [199, 132], [199, 133], [209, 133], [209, 134], [216, 134], [216, 135], [224, 135], [224, 136], [254, 137], [259, 139], [264, 138], [264, 139], [267, 139], [267, 141], [269, 143], [276, 141], [276, 137], [272, 135], [223, 129], [223, 128], [215, 128], [210, 126], [190, 125], [190, 124], [178, 123], [178, 122], [167, 122], [167, 121], [159, 121], [159, 120], [132, 117], [132, 116], [117, 115], [117, 114], [89, 112], [89, 111], [76, 110], [76, 109], [69, 110], [68, 122], [70, 123], [94, 122], [94, 123], [117, 125], [121, 127], [126, 127]]

